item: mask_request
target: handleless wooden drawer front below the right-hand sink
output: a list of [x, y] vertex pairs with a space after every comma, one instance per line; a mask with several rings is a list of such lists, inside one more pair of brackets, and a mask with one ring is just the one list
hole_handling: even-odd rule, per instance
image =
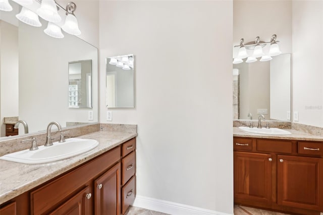
[[292, 142], [280, 140], [257, 140], [257, 150], [267, 152], [292, 153]]

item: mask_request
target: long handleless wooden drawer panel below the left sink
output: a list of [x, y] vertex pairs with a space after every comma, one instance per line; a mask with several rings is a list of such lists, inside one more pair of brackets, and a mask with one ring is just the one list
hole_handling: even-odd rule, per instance
[[[120, 146], [85, 165], [30, 192], [31, 214], [43, 214], [70, 196], [79, 187], [120, 160]], [[50, 193], [50, 195], [48, 195]]]

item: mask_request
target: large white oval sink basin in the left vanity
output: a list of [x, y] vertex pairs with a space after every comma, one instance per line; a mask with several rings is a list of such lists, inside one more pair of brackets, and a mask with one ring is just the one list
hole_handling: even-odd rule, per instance
[[52, 146], [38, 146], [37, 150], [22, 150], [6, 154], [0, 159], [23, 164], [43, 164], [69, 158], [95, 148], [98, 141], [92, 139], [69, 138], [66, 142], [53, 142]]

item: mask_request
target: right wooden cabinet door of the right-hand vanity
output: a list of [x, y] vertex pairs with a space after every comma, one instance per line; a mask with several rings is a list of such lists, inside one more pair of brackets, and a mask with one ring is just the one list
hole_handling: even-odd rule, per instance
[[278, 155], [278, 204], [323, 210], [323, 158]]

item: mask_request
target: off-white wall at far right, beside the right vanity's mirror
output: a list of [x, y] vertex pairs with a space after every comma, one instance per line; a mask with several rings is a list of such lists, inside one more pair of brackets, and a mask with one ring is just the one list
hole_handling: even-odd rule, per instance
[[323, 127], [323, 2], [293, 1], [293, 111]]

